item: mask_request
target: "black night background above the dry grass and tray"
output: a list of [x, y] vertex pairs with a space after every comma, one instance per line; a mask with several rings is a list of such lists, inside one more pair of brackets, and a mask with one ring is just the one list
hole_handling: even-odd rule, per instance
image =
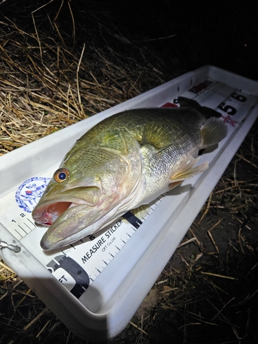
[[[31, 13], [36, 10], [38, 30], [55, 36], [50, 20], [56, 17], [61, 0], [47, 3], [6, 0], [0, 12], [19, 27], [34, 30]], [[76, 25], [75, 44], [67, 0], [58, 15], [58, 28], [65, 43], [74, 45], [75, 50], [92, 41], [98, 46], [108, 44], [121, 54], [131, 54], [134, 46], [142, 50], [151, 47], [170, 74], [171, 68], [196, 69], [211, 64], [258, 78], [257, 9], [253, 1], [72, 0], [69, 5]]]

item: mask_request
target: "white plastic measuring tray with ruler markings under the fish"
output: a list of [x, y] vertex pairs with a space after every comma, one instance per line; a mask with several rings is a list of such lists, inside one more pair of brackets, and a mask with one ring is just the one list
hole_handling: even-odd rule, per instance
[[[228, 136], [204, 151], [204, 173], [159, 197], [145, 218], [127, 213], [109, 230], [44, 252], [45, 228], [31, 210], [76, 139], [107, 116], [136, 107], [175, 106], [178, 96], [221, 112]], [[258, 114], [258, 83], [204, 66], [136, 98], [0, 157], [0, 250], [70, 330], [89, 341], [121, 332], [191, 226]], [[15, 248], [20, 248], [15, 252]], [[14, 250], [12, 250], [12, 249]]]

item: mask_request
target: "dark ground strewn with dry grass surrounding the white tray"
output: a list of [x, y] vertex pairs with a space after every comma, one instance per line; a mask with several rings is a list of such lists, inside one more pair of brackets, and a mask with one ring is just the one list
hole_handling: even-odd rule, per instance
[[[143, 4], [133, 8], [135, 1], [125, 1], [126, 11], [119, 1], [110, 2], [113, 8], [101, 1], [101, 10], [90, 2], [87, 9], [62, 3], [34, 12], [36, 25], [32, 12], [47, 1], [0, 5], [1, 155], [205, 63], [258, 78], [252, 8], [244, 14], [230, 4], [211, 5], [204, 20], [200, 5], [193, 13], [182, 4], [173, 17], [166, 1], [148, 16]], [[129, 25], [133, 16], [137, 25]], [[256, 122], [138, 312], [109, 344], [257, 343], [257, 129]], [[0, 268], [0, 343], [89, 343]]]

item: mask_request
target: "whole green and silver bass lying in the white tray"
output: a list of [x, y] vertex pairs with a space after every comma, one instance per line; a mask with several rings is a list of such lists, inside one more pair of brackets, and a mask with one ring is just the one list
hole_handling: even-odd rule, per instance
[[76, 141], [32, 211], [36, 224], [50, 226], [43, 250], [92, 235], [208, 168], [196, 166], [198, 153], [223, 140], [227, 126], [217, 111], [178, 101], [114, 114]]

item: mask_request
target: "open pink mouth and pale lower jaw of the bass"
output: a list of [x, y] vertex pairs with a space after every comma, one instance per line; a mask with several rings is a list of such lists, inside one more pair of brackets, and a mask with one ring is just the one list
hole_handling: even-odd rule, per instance
[[[78, 193], [78, 190], [77, 190]], [[50, 226], [41, 239], [43, 250], [72, 244], [84, 228], [91, 228], [103, 216], [109, 204], [100, 199], [100, 188], [87, 189], [84, 197], [50, 195], [39, 201], [32, 211], [36, 224]], [[82, 196], [82, 195], [81, 195]], [[87, 233], [83, 236], [86, 236]]]

